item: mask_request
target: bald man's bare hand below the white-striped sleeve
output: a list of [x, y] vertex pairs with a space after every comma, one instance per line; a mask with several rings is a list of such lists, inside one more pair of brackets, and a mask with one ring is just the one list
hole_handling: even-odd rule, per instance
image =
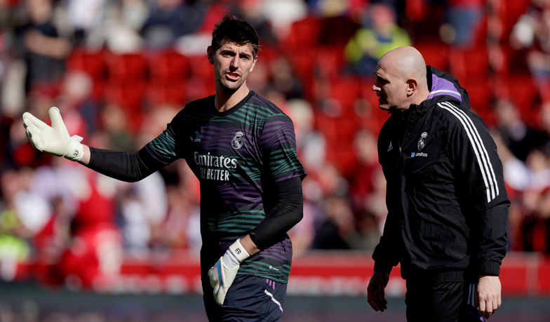
[[500, 297], [499, 276], [482, 275], [476, 288], [476, 306], [479, 306], [479, 316], [490, 318], [502, 304]]

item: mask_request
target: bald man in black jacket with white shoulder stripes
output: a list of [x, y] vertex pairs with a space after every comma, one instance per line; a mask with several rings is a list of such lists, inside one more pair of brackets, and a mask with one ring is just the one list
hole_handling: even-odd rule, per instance
[[373, 90], [391, 116], [378, 139], [388, 215], [375, 248], [368, 302], [401, 263], [408, 321], [484, 321], [500, 307], [508, 209], [502, 163], [457, 79], [412, 47], [389, 51]]

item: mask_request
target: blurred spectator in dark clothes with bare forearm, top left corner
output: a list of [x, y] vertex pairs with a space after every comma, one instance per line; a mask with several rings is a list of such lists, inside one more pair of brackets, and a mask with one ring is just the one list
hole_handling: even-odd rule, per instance
[[15, 48], [27, 64], [27, 92], [38, 81], [57, 81], [65, 71], [72, 45], [58, 35], [52, 13], [52, 0], [27, 0], [25, 18], [15, 29]]

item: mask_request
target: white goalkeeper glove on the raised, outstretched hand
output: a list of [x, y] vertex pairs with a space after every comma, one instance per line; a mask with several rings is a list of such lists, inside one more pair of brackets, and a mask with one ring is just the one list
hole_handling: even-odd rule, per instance
[[50, 114], [52, 126], [36, 119], [29, 112], [23, 114], [23, 126], [27, 129], [27, 137], [34, 149], [54, 156], [65, 156], [71, 161], [80, 161], [84, 156], [83, 145], [80, 143], [82, 137], [69, 136], [69, 131], [57, 107], [52, 107], [48, 114]]

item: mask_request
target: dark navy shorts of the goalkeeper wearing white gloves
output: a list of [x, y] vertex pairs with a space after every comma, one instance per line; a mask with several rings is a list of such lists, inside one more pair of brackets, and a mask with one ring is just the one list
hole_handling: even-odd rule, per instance
[[203, 281], [208, 321], [280, 321], [286, 286], [257, 276], [237, 275], [220, 306], [214, 300], [210, 282]]

